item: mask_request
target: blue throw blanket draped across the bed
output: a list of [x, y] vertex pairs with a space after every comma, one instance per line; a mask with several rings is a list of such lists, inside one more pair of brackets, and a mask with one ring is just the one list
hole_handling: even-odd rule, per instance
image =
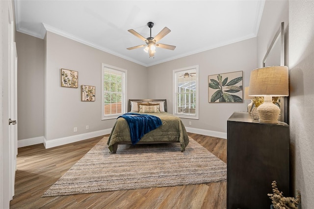
[[128, 112], [118, 118], [120, 117], [128, 122], [132, 144], [136, 144], [145, 133], [157, 129], [162, 124], [160, 118], [154, 115]]

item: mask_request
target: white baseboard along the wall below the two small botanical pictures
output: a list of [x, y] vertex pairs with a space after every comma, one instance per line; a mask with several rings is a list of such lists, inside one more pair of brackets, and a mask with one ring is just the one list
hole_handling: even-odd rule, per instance
[[73, 143], [73, 142], [77, 142], [77, 141], [81, 141], [81, 140], [85, 140], [89, 138], [102, 136], [105, 134], [109, 134], [110, 132], [111, 132], [111, 128], [100, 130], [100, 131], [82, 133], [82, 134], [78, 134], [74, 136], [67, 136], [67, 137], [58, 138], [58, 139], [45, 140], [44, 145], [45, 145], [45, 148], [48, 149], [48, 148], [52, 148], [52, 147], [56, 147], [56, 146], [60, 146], [64, 144], [69, 144], [69, 143]]

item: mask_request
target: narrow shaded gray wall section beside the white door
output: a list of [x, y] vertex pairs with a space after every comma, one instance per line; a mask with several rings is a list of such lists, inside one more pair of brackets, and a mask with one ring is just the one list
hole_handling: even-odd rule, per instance
[[16, 32], [18, 139], [44, 135], [44, 40]]

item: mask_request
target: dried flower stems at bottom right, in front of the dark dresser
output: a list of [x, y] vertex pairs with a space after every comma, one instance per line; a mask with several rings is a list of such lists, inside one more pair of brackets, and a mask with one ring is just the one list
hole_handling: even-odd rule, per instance
[[277, 182], [271, 183], [273, 188], [273, 194], [267, 194], [273, 203], [274, 209], [298, 209], [298, 205], [301, 202], [300, 191], [297, 190], [296, 198], [284, 197], [283, 192], [278, 190]]

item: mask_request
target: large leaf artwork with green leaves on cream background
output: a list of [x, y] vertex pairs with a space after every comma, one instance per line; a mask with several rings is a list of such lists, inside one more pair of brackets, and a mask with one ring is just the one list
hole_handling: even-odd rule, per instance
[[242, 103], [242, 79], [243, 71], [209, 76], [209, 103]]

